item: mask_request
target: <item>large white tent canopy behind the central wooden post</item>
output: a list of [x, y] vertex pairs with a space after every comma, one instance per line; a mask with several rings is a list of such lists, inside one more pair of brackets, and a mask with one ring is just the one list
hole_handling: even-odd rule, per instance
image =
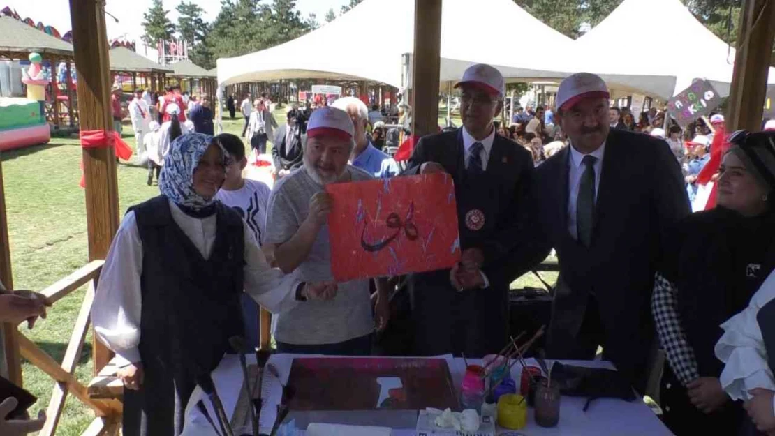
[[[396, 18], [387, 31], [376, 24], [385, 14]], [[402, 64], [403, 55], [414, 50], [414, 17], [414, 0], [366, 0], [288, 43], [219, 59], [219, 85], [324, 78], [376, 81], [401, 88], [409, 80]], [[535, 50], [505, 49], [516, 35], [536, 41]], [[560, 56], [572, 50], [573, 40], [512, 0], [445, 0], [441, 43], [441, 81], [458, 79], [475, 63], [491, 64], [505, 77], [523, 79], [565, 77], [563, 71], [574, 71]]]

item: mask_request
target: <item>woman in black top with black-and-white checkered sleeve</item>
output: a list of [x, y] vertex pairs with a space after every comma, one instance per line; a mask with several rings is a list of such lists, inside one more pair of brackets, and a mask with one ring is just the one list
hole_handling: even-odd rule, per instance
[[690, 215], [656, 274], [652, 309], [667, 354], [660, 400], [673, 433], [736, 434], [742, 404], [732, 402], [714, 355], [719, 327], [741, 311], [775, 267], [775, 132], [729, 137], [718, 207]]

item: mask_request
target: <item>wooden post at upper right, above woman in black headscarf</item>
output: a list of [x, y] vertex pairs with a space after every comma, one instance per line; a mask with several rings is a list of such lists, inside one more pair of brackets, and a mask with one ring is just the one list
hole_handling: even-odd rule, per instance
[[735, 70], [729, 92], [729, 132], [761, 129], [764, 95], [775, 36], [775, 2], [743, 0], [735, 53]]

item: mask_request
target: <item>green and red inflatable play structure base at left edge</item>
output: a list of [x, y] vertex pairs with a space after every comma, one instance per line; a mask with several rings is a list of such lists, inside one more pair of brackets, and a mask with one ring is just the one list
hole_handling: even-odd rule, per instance
[[0, 151], [49, 142], [51, 129], [40, 106], [29, 98], [0, 98]]

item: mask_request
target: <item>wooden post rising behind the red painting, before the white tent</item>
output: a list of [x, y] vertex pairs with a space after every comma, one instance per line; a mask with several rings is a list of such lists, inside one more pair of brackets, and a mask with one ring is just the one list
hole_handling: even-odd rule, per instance
[[412, 135], [439, 131], [442, 0], [415, 0]]

